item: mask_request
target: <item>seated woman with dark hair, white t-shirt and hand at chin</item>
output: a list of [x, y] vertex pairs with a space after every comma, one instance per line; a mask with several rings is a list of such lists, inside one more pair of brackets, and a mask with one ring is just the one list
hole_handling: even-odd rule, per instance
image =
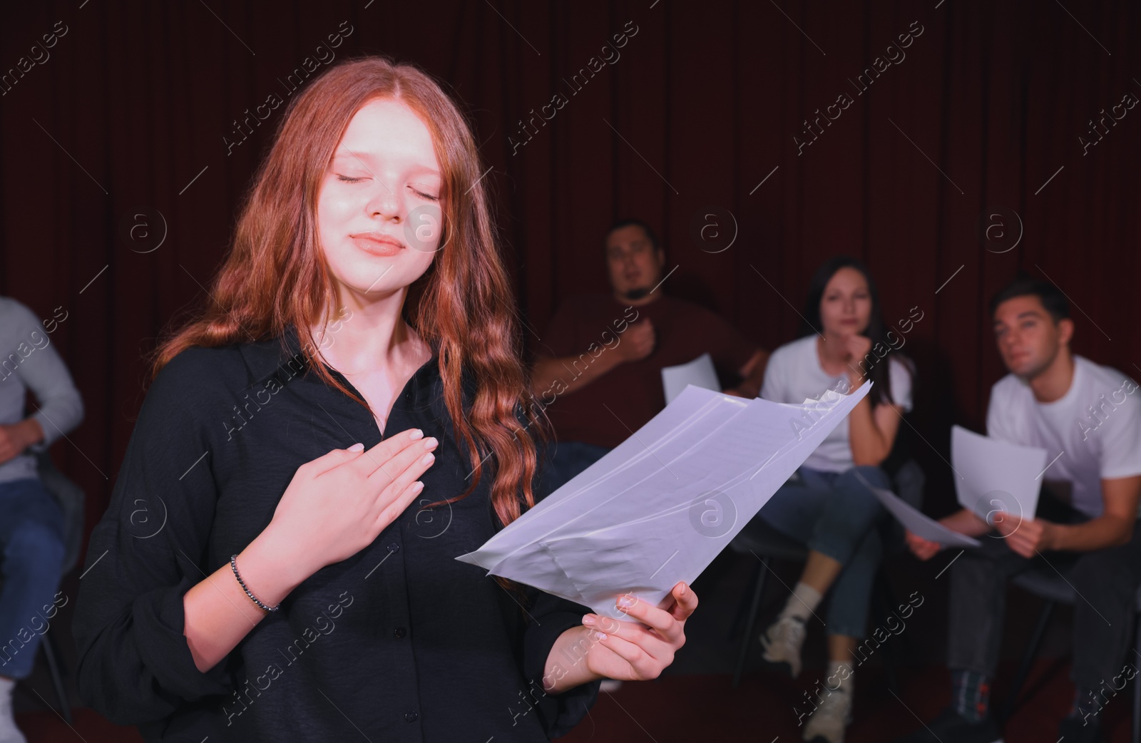
[[803, 337], [772, 353], [761, 397], [800, 404], [827, 390], [847, 394], [868, 379], [873, 386], [755, 517], [810, 550], [800, 581], [761, 644], [767, 664], [798, 676], [804, 625], [832, 590], [826, 689], [804, 724], [804, 740], [839, 743], [851, 711], [853, 679], [847, 661], [864, 636], [882, 551], [875, 525], [883, 510], [860, 477], [876, 487], [891, 486], [880, 465], [891, 452], [900, 417], [912, 406], [912, 365], [899, 354], [884, 353], [891, 344], [875, 282], [853, 258], [835, 257], [817, 269], [803, 317]]

